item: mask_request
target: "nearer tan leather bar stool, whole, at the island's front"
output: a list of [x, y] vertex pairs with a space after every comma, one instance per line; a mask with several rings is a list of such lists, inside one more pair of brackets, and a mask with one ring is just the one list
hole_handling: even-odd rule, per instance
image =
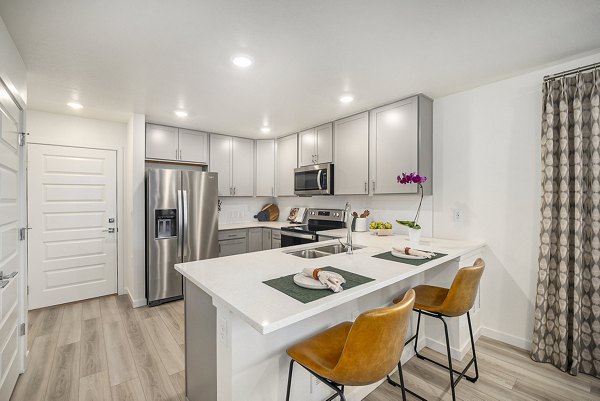
[[[401, 368], [414, 302], [415, 292], [409, 290], [395, 305], [362, 313], [354, 323], [340, 323], [289, 348], [292, 360], [286, 401], [294, 362], [335, 391], [327, 401], [338, 396], [345, 401], [344, 386], [366, 386], [385, 378], [396, 364]], [[402, 396], [406, 400], [404, 391]]]

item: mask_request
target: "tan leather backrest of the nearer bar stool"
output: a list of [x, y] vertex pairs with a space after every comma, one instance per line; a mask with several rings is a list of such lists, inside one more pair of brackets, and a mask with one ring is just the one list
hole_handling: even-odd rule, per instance
[[401, 302], [362, 313], [348, 333], [331, 378], [350, 386], [385, 378], [402, 356], [414, 303], [415, 291], [410, 289]]

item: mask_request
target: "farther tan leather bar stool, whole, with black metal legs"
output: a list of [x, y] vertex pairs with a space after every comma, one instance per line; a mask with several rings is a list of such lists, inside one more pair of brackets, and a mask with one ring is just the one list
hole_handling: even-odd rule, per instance
[[[473, 327], [471, 326], [471, 315], [469, 311], [475, 303], [475, 297], [477, 296], [477, 289], [479, 288], [479, 282], [481, 281], [481, 275], [485, 269], [485, 263], [483, 259], [479, 258], [475, 261], [472, 267], [463, 267], [460, 269], [450, 288], [434, 287], [431, 285], [419, 285], [414, 288], [416, 299], [414, 310], [419, 312], [419, 318], [417, 320], [417, 332], [412, 336], [406, 344], [411, 341], [415, 341], [414, 349], [417, 358], [424, 359], [429, 362], [441, 366], [450, 372], [450, 387], [452, 388], [452, 400], [456, 400], [455, 387], [458, 382], [464, 377], [470, 382], [475, 383], [479, 378], [479, 370], [477, 368], [477, 355], [475, 354], [475, 340], [473, 339]], [[394, 302], [403, 302], [401, 298], [397, 298]], [[446, 335], [446, 350], [448, 352], [448, 366], [445, 366], [437, 361], [427, 358], [417, 352], [417, 343], [419, 341], [419, 327], [421, 325], [421, 315], [435, 317], [440, 319], [444, 323], [444, 333]], [[467, 366], [459, 372], [452, 368], [452, 356], [450, 354], [450, 339], [448, 337], [448, 325], [444, 320], [444, 317], [458, 317], [466, 314], [467, 321], [469, 322], [469, 335], [471, 336], [471, 347], [473, 349], [473, 357], [467, 363]], [[469, 368], [473, 365], [475, 367], [475, 376], [467, 376], [466, 373]], [[454, 379], [454, 374], [458, 377]], [[424, 400], [418, 394], [404, 388], [402, 376], [400, 377], [400, 384], [394, 382], [388, 376], [388, 382], [397, 386], [402, 387], [402, 390], [414, 395], [415, 397]]]

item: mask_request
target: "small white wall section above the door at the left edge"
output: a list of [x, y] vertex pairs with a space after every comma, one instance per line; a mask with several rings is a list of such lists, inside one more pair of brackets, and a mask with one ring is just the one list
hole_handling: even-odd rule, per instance
[[24, 105], [27, 103], [27, 71], [25, 63], [12, 41], [4, 21], [0, 18], [0, 78], [13, 95]]

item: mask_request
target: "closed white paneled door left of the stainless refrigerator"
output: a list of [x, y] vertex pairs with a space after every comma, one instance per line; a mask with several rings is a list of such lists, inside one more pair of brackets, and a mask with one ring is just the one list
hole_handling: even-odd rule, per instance
[[29, 308], [116, 293], [116, 152], [29, 145], [28, 188]]

